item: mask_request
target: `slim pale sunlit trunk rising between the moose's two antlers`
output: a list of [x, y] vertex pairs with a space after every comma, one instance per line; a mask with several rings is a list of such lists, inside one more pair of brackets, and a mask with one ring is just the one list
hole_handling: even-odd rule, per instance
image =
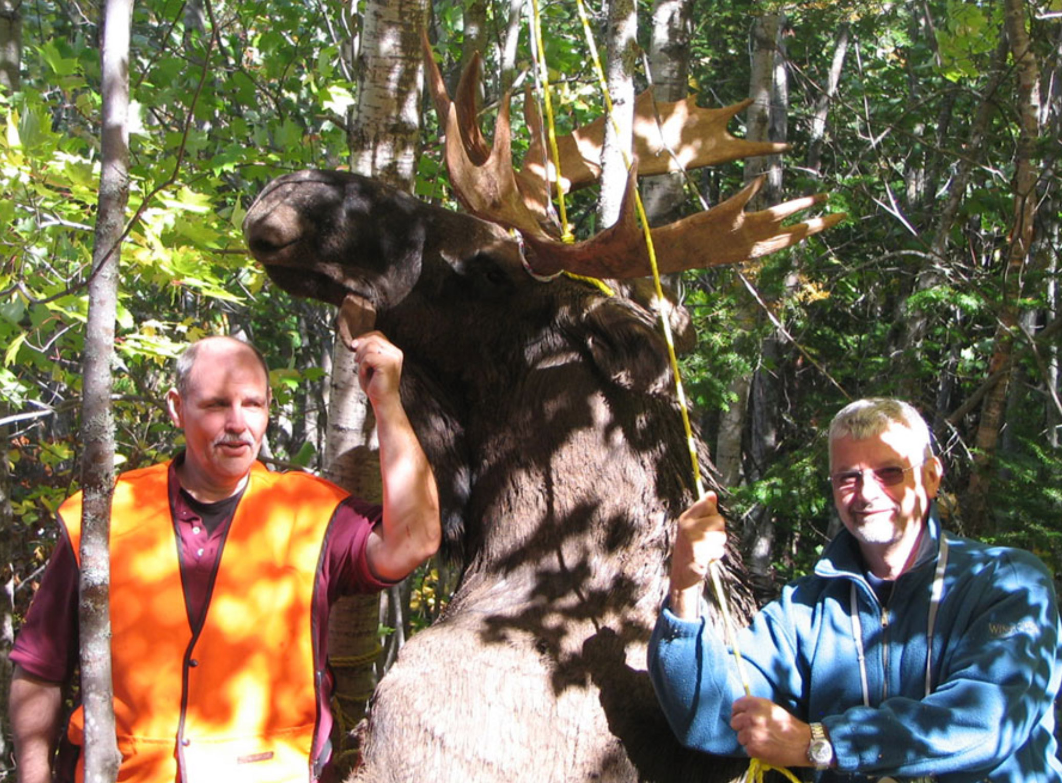
[[[602, 227], [619, 218], [619, 205], [627, 185], [627, 160], [630, 160], [634, 127], [634, 66], [637, 62], [638, 17], [634, 0], [609, 2], [609, 62], [605, 82], [612, 98], [612, 115], [604, 124], [601, 150], [601, 196], [598, 220]], [[624, 157], [626, 155], [626, 157]]]

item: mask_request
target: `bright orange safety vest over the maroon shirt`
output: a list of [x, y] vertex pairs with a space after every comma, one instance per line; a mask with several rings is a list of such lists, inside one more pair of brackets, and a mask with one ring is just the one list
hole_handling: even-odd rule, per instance
[[[313, 780], [325, 662], [312, 628], [323, 542], [346, 492], [255, 463], [193, 634], [170, 512], [169, 464], [119, 476], [110, 626], [119, 781]], [[81, 493], [59, 508], [80, 562]], [[81, 709], [68, 735], [84, 743]], [[78, 781], [84, 779], [84, 761]]]

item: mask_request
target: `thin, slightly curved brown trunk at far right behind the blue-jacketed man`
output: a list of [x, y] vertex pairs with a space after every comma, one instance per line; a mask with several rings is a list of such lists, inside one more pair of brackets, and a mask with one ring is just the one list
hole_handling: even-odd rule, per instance
[[1040, 140], [1040, 69], [1026, 31], [1026, 5], [1022, 0], [1006, 0], [1005, 29], [1010, 42], [1017, 74], [1017, 107], [1020, 133], [1014, 166], [1014, 216], [1007, 264], [1003, 279], [1003, 302], [995, 346], [989, 372], [1008, 368], [993, 386], [981, 406], [980, 421], [975, 438], [974, 471], [967, 487], [966, 519], [974, 535], [992, 529], [989, 493], [995, 473], [995, 453], [999, 431], [1004, 425], [1007, 389], [1012, 367], [1010, 355], [1014, 350], [1014, 330], [1018, 321], [1018, 300], [1022, 278], [1032, 247], [1033, 222], [1037, 211], [1037, 145]]

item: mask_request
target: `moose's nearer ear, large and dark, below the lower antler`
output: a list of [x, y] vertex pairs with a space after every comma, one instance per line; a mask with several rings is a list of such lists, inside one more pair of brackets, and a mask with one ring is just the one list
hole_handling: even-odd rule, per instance
[[613, 297], [592, 307], [584, 323], [590, 360], [612, 383], [645, 394], [669, 388], [667, 344], [649, 312]]

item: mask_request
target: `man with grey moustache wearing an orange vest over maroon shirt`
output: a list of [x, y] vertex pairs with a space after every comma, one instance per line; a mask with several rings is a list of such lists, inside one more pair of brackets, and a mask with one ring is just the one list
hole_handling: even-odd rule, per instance
[[[427, 458], [398, 395], [401, 352], [354, 345], [376, 415], [382, 507], [257, 462], [269, 423], [261, 354], [208, 337], [177, 361], [167, 397], [185, 436], [174, 459], [119, 476], [110, 520], [110, 619], [119, 780], [316, 780], [329, 756], [328, 608], [374, 592], [441, 540]], [[20, 783], [51, 779], [63, 688], [78, 660], [81, 493], [11, 655]], [[82, 780], [84, 717], [56, 776]]]

